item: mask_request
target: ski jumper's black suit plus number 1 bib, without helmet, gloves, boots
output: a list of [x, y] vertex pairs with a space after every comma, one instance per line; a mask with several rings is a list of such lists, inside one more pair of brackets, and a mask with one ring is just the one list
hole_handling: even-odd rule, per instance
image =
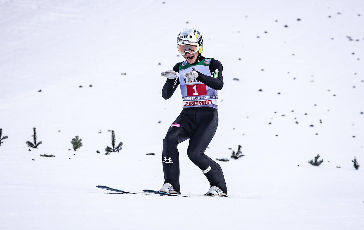
[[[162, 164], [164, 183], [170, 183], [179, 192], [179, 155], [177, 146], [190, 139], [187, 155], [206, 176], [210, 186], [219, 187], [227, 193], [222, 169], [218, 163], [205, 155], [205, 150], [215, 135], [217, 115], [217, 94], [223, 86], [222, 64], [218, 60], [199, 56], [197, 61], [177, 63], [174, 71], [179, 78], [167, 79], [163, 86], [162, 96], [169, 99], [178, 84], [181, 86], [183, 110], [171, 124], [163, 139]], [[197, 71], [198, 78], [191, 84], [185, 77], [187, 72]]]

